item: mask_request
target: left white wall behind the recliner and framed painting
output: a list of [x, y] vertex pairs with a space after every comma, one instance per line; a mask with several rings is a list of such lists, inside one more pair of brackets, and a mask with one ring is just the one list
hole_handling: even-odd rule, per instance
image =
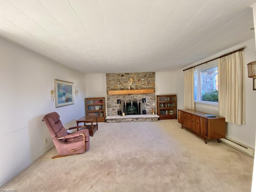
[[[51, 146], [45, 114], [56, 111], [66, 128], [84, 116], [84, 74], [0, 38], [0, 186]], [[74, 105], [55, 108], [54, 79], [79, 86]], [[44, 139], [48, 143], [44, 144]]]

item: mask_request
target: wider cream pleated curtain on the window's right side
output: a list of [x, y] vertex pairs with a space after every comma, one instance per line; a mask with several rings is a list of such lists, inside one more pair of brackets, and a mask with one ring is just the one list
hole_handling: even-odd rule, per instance
[[226, 122], [245, 124], [244, 51], [218, 59], [219, 114]]

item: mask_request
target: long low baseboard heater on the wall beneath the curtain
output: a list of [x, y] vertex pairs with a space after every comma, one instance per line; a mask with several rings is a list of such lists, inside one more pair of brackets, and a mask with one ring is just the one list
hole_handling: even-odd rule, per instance
[[254, 149], [250, 148], [240, 142], [237, 142], [231, 138], [228, 138], [226, 136], [226, 138], [222, 138], [221, 141], [237, 150], [239, 150], [240, 152], [243, 152], [244, 154], [254, 157]]

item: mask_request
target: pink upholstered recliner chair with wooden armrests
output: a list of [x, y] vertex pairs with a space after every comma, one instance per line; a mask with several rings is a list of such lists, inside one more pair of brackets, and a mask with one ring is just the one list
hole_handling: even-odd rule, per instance
[[88, 129], [79, 130], [84, 126], [71, 127], [68, 130], [77, 129], [74, 133], [68, 133], [60, 121], [60, 116], [56, 112], [49, 113], [42, 119], [48, 127], [50, 135], [59, 155], [58, 158], [73, 154], [84, 153], [90, 146], [90, 135]]

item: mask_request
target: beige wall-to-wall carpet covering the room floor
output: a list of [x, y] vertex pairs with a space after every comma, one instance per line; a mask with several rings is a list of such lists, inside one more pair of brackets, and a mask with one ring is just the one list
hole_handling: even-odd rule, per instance
[[84, 154], [52, 148], [0, 190], [18, 192], [250, 192], [253, 158], [208, 144], [177, 120], [100, 123]]

